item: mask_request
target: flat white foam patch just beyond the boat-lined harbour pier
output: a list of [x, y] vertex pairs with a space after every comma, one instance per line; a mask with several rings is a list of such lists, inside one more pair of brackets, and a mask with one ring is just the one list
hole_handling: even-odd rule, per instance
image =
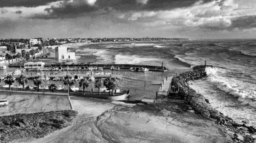
[[141, 62], [149, 62], [149, 61], [161, 61], [161, 59], [151, 58], [151, 57], [140, 57], [138, 55], [126, 56], [119, 55], [115, 56], [116, 64], [138, 64]]

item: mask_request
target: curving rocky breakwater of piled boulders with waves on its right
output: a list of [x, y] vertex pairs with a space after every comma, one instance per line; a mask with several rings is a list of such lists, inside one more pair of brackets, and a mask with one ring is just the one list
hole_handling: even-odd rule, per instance
[[[229, 130], [228, 133], [233, 136], [234, 142], [254, 143], [256, 141], [256, 129], [253, 126], [236, 123], [228, 116], [223, 115], [213, 108], [204, 95], [198, 94], [195, 90], [189, 87], [189, 84], [187, 83], [188, 81], [201, 79], [207, 76], [204, 67], [205, 66], [196, 66], [192, 71], [180, 73], [178, 76], [173, 77], [172, 86], [179, 88], [178, 95], [190, 103], [190, 106], [196, 113], [201, 114], [205, 118], [209, 118], [211, 121], [215, 121], [215, 123], [227, 126]], [[194, 112], [194, 110], [191, 110], [191, 112]]]

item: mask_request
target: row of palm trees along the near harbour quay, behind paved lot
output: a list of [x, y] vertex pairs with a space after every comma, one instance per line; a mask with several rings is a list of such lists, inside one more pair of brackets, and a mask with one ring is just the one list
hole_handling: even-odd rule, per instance
[[[0, 78], [0, 82], [2, 81], [2, 79]], [[20, 77], [18, 78], [18, 83], [20, 85], [22, 85], [22, 90], [24, 91], [24, 85], [28, 83], [28, 79], [26, 78], [25, 74], [21, 74]], [[9, 89], [11, 90], [11, 86], [12, 84], [15, 83], [15, 78], [12, 75], [7, 75], [6, 79], [5, 79], [6, 84], [9, 84]], [[33, 80], [34, 85], [36, 86], [35, 88], [37, 89], [37, 91], [39, 92], [39, 87], [44, 83], [43, 77], [42, 76], [35, 76], [35, 79]], [[72, 78], [72, 76], [65, 76], [64, 78], [64, 85], [69, 85], [69, 86], [73, 86], [74, 85], [74, 80]], [[114, 95], [114, 90], [118, 89], [118, 81], [115, 78], [107, 78], [104, 81], [102, 81], [102, 79], [97, 79], [94, 82], [94, 87], [99, 89], [99, 95], [100, 95], [100, 88], [102, 87], [106, 87], [109, 90], [109, 95], [111, 95], [111, 90], [112, 90], [112, 95]], [[83, 94], [84, 94], [84, 90], [85, 88], [89, 87], [89, 82], [88, 80], [85, 79], [81, 79], [79, 81], [79, 87], [83, 88]], [[49, 85], [49, 90], [56, 90], [57, 86], [55, 84], [50, 84]], [[68, 89], [70, 90], [70, 89]]]

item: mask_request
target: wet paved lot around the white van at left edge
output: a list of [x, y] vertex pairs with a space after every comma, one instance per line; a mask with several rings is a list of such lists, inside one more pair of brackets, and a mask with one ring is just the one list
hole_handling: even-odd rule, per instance
[[65, 96], [35, 95], [28, 93], [0, 93], [0, 99], [7, 99], [9, 105], [0, 106], [0, 115], [47, 112], [68, 109]]

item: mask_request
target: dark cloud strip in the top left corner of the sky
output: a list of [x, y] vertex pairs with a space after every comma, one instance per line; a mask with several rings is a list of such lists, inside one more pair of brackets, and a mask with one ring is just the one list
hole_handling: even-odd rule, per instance
[[56, 2], [58, 0], [0, 0], [0, 7], [37, 7], [45, 6], [47, 3]]

